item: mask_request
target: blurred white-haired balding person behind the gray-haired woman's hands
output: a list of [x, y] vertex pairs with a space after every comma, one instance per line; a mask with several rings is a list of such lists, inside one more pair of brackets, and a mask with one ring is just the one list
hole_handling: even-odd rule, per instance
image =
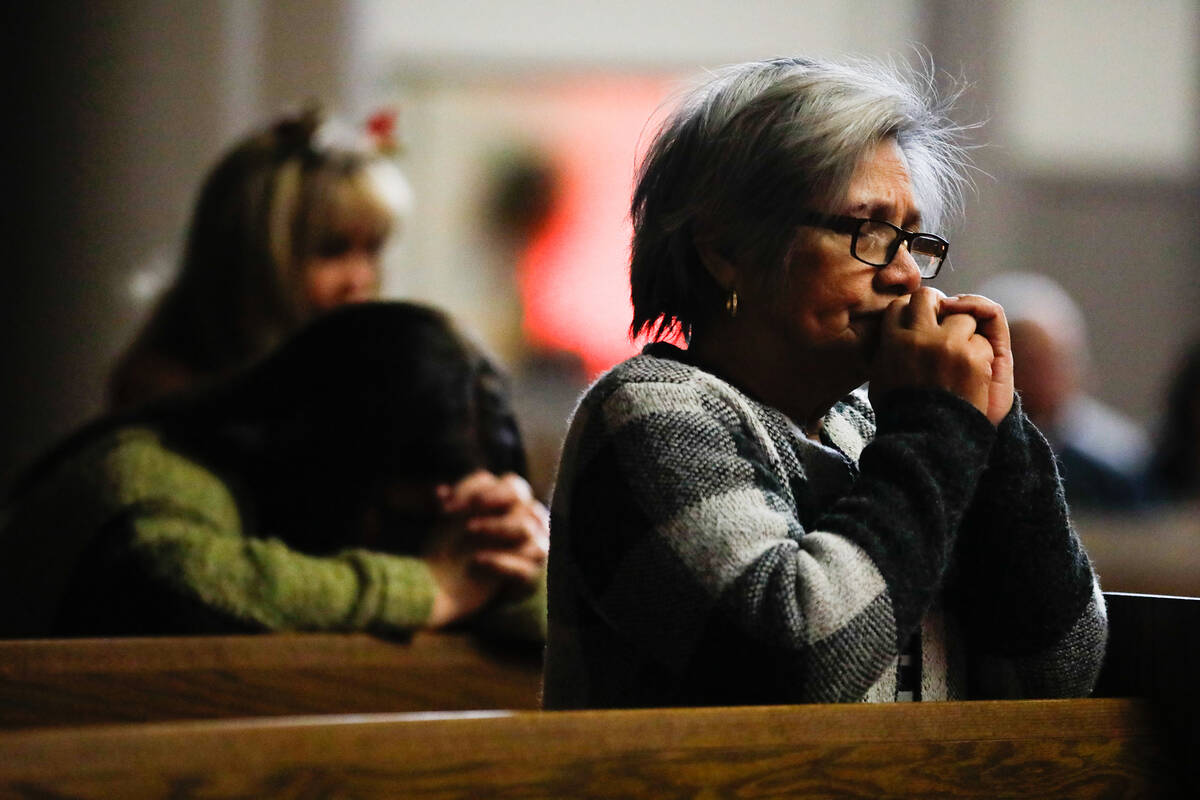
[[997, 275], [979, 291], [1008, 315], [1021, 405], [1055, 450], [1072, 510], [1142, 506], [1150, 444], [1133, 421], [1087, 393], [1087, 327], [1075, 302], [1031, 272]]

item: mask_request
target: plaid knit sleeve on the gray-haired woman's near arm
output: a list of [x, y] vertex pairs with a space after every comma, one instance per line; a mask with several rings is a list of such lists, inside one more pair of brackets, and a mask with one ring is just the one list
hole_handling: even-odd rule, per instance
[[991, 426], [964, 407], [895, 397], [850, 491], [822, 500], [702, 377], [594, 390], [553, 509], [551, 648], [570, 582], [676, 676], [666, 702], [860, 699], [941, 588], [986, 463]]

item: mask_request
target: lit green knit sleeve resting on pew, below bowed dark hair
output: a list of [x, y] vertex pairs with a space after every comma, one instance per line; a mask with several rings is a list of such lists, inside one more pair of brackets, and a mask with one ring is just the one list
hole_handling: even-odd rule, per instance
[[161, 588], [268, 630], [403, 631], [428, 619], [434, 583], [421, 560], [362, 549], [313, 557], [245, 536], [216, 475], [152, 432], [119, 435], [103, 464], [112, 512], [127, 527], [113, 546]]

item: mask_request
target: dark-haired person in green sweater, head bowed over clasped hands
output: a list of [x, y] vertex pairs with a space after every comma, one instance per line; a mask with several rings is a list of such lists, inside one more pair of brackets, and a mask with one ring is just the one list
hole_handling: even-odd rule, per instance
[[548, 516], [524, 471], [505, 379], [446, 317], [349, 306], [35, 465], [0, 515], [0, 636], [540, 640]]

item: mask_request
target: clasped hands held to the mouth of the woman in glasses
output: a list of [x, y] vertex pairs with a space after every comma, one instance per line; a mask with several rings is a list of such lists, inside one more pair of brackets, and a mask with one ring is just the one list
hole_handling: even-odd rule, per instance
[[892, 301], [871, 365], [871, 402], [905, 386], [944, 389], [1000, 425], [1013, 408], [1013, 351], [1004, 309], [980, 295], [930, 287]]

